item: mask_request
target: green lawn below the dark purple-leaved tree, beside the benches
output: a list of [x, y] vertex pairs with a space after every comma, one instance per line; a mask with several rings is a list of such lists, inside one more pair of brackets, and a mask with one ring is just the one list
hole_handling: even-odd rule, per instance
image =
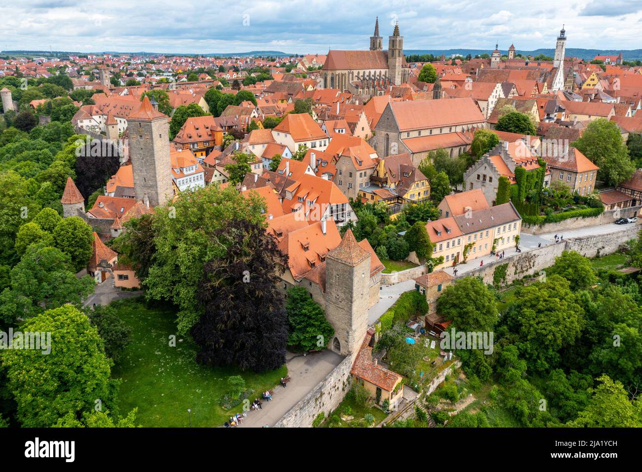
[[[241, 405], [225, 411], [218, 400], [227, 392], [227, 377], [241, 374], [246, 387], [256, 395], [278, 385], [286, 366], [265, 374], [213, 368], [195, 362], [196, 345], [189, 337], [176, 333], [171, 311], [148, 309], [139, 299], [113, 302], [119, 317], [132, 328], [132, 342], [121, 360], [112, 368], [121, 378], [119, 410], [125, 415], [138, 407], [136, 421], [141, 426], [221, 426]], [[176, 347], [169, 336], [176, 336]]]

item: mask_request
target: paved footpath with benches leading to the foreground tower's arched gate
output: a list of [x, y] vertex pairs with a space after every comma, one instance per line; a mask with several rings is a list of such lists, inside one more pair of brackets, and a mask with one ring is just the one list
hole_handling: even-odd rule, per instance
[[[274, 387], [272, 400], [261, 400], [263, 409], [247, 412], [239, 428], [261, 428], [266, 425], [272, 428], [343, 360], [342, 356], [329, 349], [307, 356], [293, 353], [287, 355], [286, 365], [290, 376], [288, 387], [283, 388], [281, 385]], [[256, 396], [260, 398], [261, 392], [257, 392]]]

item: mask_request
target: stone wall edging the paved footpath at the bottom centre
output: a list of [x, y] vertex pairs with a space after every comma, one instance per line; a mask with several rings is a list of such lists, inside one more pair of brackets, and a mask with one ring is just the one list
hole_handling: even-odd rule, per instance
[[276, 428], [309, 428], [318, 414], [325, 417], [336, 409], [350, 389], [352, 356], [347, 356], [299, 403], [274, 425]]

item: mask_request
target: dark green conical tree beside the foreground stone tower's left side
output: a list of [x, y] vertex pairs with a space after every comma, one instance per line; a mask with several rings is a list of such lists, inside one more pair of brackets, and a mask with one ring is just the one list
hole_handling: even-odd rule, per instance
[[315, 302], [308, 290], [295, 286], [288, 290], [285, 303], [288, 313], [288, 345], [299, 351], [320, 351], [327, 347], [334, 336], [334, 328], [325, 319], [320, 304]]

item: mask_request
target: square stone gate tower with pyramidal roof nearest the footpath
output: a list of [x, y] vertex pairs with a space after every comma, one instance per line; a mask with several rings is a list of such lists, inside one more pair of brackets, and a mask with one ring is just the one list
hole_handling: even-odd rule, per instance
[[370, 252], [348, 229], [339, 245], [325, 256], [325, 317], [334, 328], [330, 349], [356, 353], [368, 328]]

